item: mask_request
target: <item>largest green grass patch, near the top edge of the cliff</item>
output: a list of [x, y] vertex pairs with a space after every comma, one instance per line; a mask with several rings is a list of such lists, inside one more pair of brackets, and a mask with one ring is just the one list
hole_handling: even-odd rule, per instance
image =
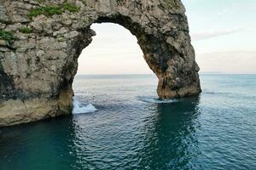
[[71, 13], [77, 13], [79, 12], [80, 8], [71, 3], [63, 3], [60, 6], [44, 6], [44, 7], [33, 8], [27, 14], [27, 16], [29, 18], [32, 18], [33, 16], [44, 14], [45, 16], [49, 17], [54, 14], [62, 14], [63, 12], [65, 12], [65, 10]]

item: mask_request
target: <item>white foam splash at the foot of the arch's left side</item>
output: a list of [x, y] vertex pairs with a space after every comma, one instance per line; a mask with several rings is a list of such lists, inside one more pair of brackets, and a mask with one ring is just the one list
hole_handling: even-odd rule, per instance
[[90, 113], [97, 111], [94, 105], [83, 105], [78, 100], [73, 101], [73, 114]]

